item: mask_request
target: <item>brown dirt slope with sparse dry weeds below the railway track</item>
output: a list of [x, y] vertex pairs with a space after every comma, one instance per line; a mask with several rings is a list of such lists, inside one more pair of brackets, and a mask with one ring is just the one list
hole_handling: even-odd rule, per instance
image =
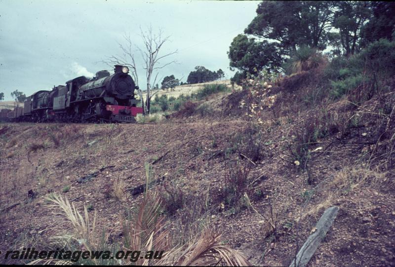
[[[387, 96], [392, 105], [394, 99]], [[50, 236], [69, 227], [55, 222], [45, 206], [43, 197], [54, 192], [78, 209], [90, 206], [100, 227], [113, 229], [111, 238], [118, 240], [124, 208], [143, 197], [126, 189], [145, 183], [148, 162], [154, 178], [164, 177], [165, 190], [158, 190], [173, 196], [166, 209], [175, 238], [193, 235], [193, 226], [201, 224], [223, 232], [223, 242], [254, 265], [287, 266], [324, 209], [337, 205], [339, 215], [309, 266], [394, 266], [393, 153], [375, 159], [370, 169], [364, 156], [392, 141], [372, 142], [381, 124], [364, 114], [374, 114], [377, 101], [357, 110], [365, 119], [347, 134], [337, 129], [318, 138], [309, 147], [307, 170], [295, 164], [288, 148], [308, 112], [265, 122], [259, 136], [251, 121], [237, 116], [196, 115], [188, 123], [0, 124], [0, 250], [45, 247]], [[333, 109], [341, 115], [341, 103]], [[257, 141], [258, 155], [251, 150]], [[225, 190], [232, 179], [241, 179], [235, 193]], [[118, 198], [111, 195], [116, 181], [125, 189]], [[26, 202], [29, 191], [35, 197]]]

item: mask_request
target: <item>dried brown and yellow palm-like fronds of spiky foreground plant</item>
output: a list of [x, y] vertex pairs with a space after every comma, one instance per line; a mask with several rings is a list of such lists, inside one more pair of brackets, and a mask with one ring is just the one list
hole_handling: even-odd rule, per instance
[[[116, 245], [108, 242], [109, 234], [101, 237], [95, 234], [96, 214], [93, 222], [89, 220], [87, 208], [84, 207], [83, 216], [71, 205], [67, 199], [53, 195], [46, 198], [48, 206], [54, 209], [54, 214], [59, 215], [63, 222], [71, 225], [70, 231], [54, 239], [63, 242], [62, 247], [70, 251], [104, 251], [111, 247], [112, 255], [120, 250]], [[246, 257], [241, 253], [221, 243], [221, 235], [214, 230], [205, 230], [202, 234], [183, 246], [170, 248], [170, 234], [164, 226], [162, 205], [157, 192], [148, 192], [137, 212], [131, 212], [122, 223], [123, 226], [123, 249], [129, 251], [165, 251], [161, 259], [79, 259], [78, 262], [45, 259], [36, 260], [30, 265], [36, 264], [60, 264], [60, 265], [129, 265], [142, 266], [250, 266]], [[58, 246], [59, 247], [59, 243]]]

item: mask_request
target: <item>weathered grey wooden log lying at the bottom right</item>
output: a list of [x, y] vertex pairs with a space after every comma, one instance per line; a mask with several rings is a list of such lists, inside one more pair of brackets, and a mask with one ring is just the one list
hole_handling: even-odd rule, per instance
[[307, 238], [306, 242], [303, 244], [302, 248], [296, 255], [296, 258], [292, 261], [289, 267], [307, 266], [322, 239], [325, 237], [326, 232], [332, 226], [338, 212], [339, 207], [336, 206], [325, 210], [316, 224], [316, 227], [312, 230], [314, 232]]

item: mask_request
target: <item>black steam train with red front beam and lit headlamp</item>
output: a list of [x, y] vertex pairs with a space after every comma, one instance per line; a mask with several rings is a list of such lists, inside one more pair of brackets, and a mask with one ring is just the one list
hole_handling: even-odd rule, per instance
[[134, 90], [138, 89], [125, 66], [115, 65], [114, 74], [99, 71], [89, 79], [79, 76], [51, 91], [40, 90], [26, 98], [23, 109], [2, 112], [12, 121], [59, 122], [136, 122], [143, 113], [136, 107]]

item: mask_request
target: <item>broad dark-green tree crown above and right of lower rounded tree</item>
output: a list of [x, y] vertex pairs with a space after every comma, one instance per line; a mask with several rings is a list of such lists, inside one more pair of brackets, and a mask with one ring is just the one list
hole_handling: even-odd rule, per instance
[[333, 8], [332, 1], [262, 1], [244, 33], [276, 40], [288, 55], [298, 46], [324, 49]]

